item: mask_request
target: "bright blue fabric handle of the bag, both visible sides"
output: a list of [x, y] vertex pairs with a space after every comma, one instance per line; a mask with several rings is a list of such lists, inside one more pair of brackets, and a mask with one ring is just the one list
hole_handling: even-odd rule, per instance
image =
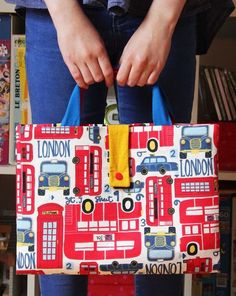
[[[172, 121], [166, 108], [160, 88], [155, 84], [152, 88], [152, 118], [155, 125], [171, 125]], [[62, 126], [80, 125], [80, 89], [75, 86], [66, 113], [61, 122]]]

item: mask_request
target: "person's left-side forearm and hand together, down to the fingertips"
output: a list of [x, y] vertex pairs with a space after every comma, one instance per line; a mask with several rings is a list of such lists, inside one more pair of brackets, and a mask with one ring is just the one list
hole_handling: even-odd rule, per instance
[[77, 84], [88, 88], [90, 84], [105, 80], [106, 85], [111, 86], [113, 69], [105, 46], [78, 2], [46, 2], [57, 30], [61, 54]]

